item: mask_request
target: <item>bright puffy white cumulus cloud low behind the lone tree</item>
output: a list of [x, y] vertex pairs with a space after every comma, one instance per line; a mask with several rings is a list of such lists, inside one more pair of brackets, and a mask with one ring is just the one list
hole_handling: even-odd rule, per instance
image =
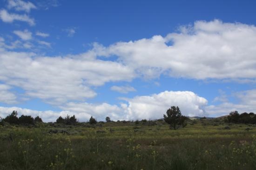
[[160, 119], [171, 106], [178, 106], [182, 115], [204, 116], [207, 100], [190, 91], [164, 91], [150, 96], [136, 96], [126, 99], [128, 105], [122, 105], [125, 119]]

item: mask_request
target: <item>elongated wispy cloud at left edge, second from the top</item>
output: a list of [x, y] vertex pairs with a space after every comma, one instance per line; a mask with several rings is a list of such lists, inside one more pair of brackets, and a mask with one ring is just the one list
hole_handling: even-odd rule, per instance
[[34, 19], [29, 18], [26, 14], [19, 15], [15, 13], [8, 13], [5, 9], [0, 10], [0, 19], [3, 22], [12, 23], [14, 20], [27, 22], [29, 25], [35, 25]]

